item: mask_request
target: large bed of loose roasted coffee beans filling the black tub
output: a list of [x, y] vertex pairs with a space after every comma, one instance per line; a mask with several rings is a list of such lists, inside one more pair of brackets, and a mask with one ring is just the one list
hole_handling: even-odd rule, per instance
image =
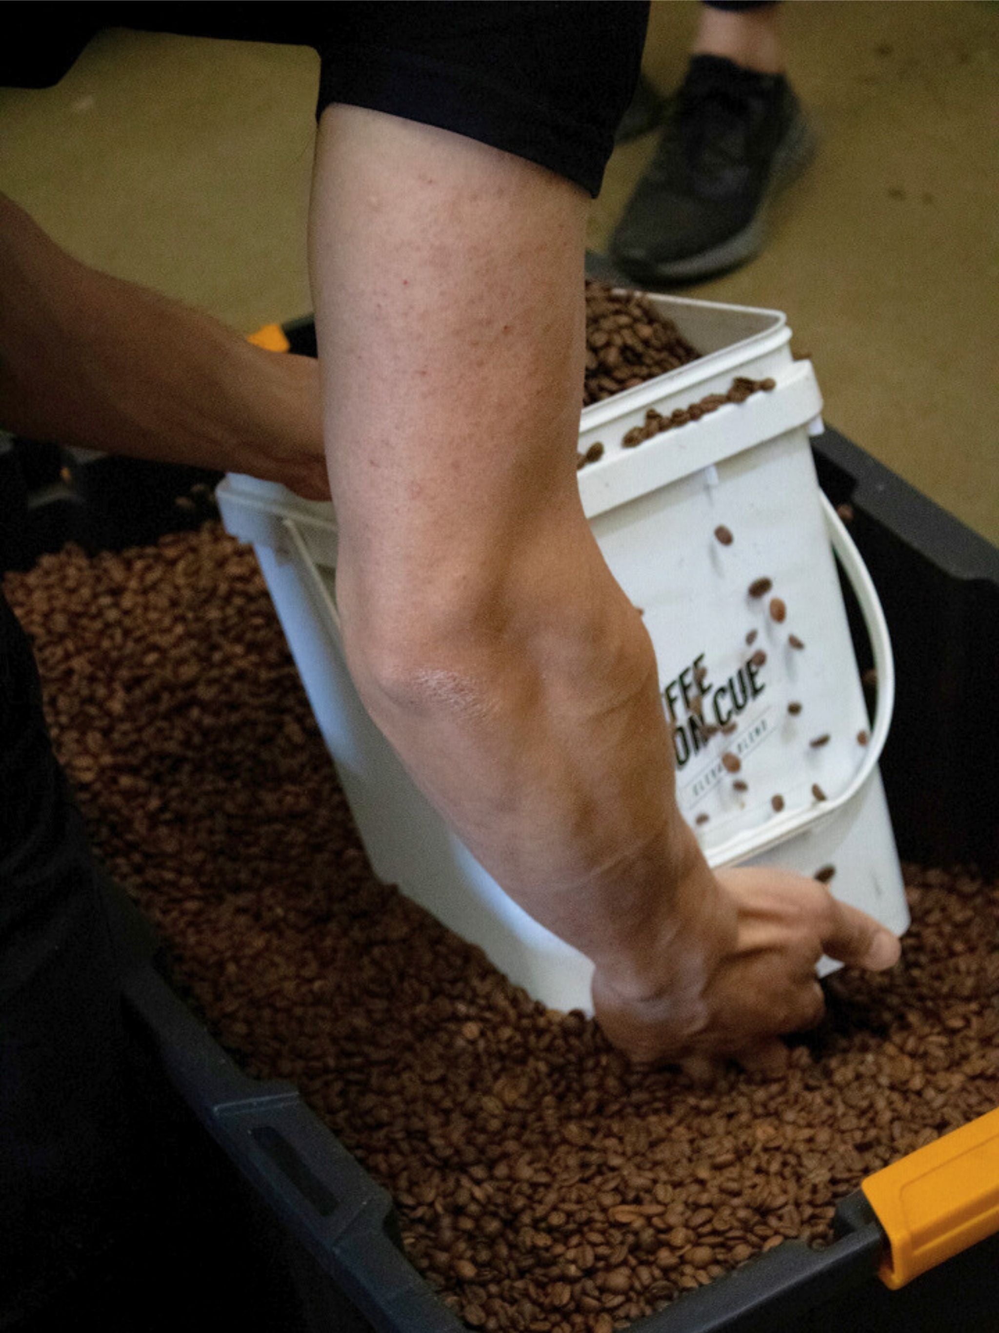
[[217, 525], [7, 595], [95, 846], [252, 1074], [394, 1196], [473, 1329], [611, 1333], [999, 1098], [999, 884], [907, 873], [902, 962], [827, 982], [775, 1080], [637, 1070], [378, 884], [253, 553]]

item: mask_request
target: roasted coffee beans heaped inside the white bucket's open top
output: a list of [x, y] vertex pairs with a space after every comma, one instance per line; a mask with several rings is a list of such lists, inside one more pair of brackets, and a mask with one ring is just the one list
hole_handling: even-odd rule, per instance
[[647, 296], [586, 280], [583, 407], [699, 357]]

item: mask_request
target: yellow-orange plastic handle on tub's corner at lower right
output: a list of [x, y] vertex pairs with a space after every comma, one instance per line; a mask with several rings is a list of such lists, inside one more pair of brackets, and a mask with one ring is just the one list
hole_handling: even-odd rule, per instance
[[860, 1186], [891, 1246], [892, 1289], [999, 1232], [999, 1109], [910, 1153]]

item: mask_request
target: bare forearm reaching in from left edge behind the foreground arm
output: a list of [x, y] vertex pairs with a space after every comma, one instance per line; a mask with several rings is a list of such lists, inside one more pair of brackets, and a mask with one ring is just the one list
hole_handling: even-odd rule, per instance
[[99, 273], [0, 196], [0, 427], [329, 495], [316, 363]]

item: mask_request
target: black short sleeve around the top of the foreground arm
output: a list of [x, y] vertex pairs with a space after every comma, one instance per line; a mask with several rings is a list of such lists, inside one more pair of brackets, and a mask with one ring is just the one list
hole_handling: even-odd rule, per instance
[[317, 33], [318, 113], [349, 103], [450, 129], [599, 192], [649, 5], [341, 3]]

